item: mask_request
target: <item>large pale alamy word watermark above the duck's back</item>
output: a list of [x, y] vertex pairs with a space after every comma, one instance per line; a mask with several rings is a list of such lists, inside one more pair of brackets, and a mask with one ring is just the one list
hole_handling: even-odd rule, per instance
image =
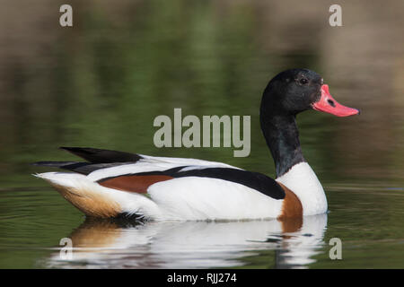
[[[241, 123], [242, 121], [242, 123]], [[154, 118], [154, 145], [161, 147], [233, 147], [234, 157], [250, 155], [250, 116], [203, 116], [182, 118], [182, 110], [174, 109], [174, 120], [166, 115]], [[187, 127], [183, 131], [183, 127]]]

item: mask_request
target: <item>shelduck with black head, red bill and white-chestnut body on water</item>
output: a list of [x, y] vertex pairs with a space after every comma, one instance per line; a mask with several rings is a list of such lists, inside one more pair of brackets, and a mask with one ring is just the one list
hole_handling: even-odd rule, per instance
[[339, 104], [312, 70], [294, 68], [273, 77], [261, 98], [259, 120], [275, 179], [223, 162], [89, 147], [60, 147], [84, 161], [38, 161], [34, 164], [64, 171], [34, 176], [89, 217], [242, 221], [327, 213], [324, 189], [303, 157], [296, 125], [296, 115], [310, 109], [337, 117], [360, 113]]

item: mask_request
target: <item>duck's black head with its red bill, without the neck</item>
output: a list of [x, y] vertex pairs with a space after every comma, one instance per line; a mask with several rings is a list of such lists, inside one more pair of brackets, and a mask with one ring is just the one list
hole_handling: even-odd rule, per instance
[[338, 103], [329, 93], [321, 76], [308, 69], [291, 69], [277, 74], [264, 91], [261, 112], [296, 115], [315, 109], [338, 117], [359, 114], [358, 109]]

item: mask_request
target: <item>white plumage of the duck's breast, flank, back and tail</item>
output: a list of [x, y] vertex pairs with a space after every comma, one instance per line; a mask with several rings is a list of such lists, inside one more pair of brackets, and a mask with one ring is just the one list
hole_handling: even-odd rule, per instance
[[[145, 159], [136, 163], [95, 170], [87, 176], [66, 172], [47, 172], [37, 176], [57, 187], [62, 196], [72, 204], [75, 204], [72, 197], [80, 200], [84, 198], [86, 203], [96, 200], [103, 208], [114, 209], [117, 213], [136, 213], [155, 221], [268, 219], [277, 218], [282, 212], [284, 200], [277, 200], [250, 187], [217, 178], [187, 177], [157, 182], [148, 187], [147, 196], [102, 187], [96, 182], [101, 178], [167, 170], [184, 165], [191, 166], [187, 169], [237, 169], [213, 161], [144, 157]], [[324, 191], [306, 162], [296, 164], [284, 176], [277, 178], [277, 181], [298, 196], [303, 205], [303, 215], [327, 211]], [[90, 204], [89, 206], [91, 208]], [[85, 212], [85, 208], [81, 210]]]

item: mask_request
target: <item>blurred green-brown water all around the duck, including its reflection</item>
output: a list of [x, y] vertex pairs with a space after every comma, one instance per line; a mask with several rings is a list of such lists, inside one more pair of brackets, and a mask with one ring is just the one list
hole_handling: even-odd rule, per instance
[[[364, 9], [343, 1], [340, 28], [328, 25], [327, 1], [77, 3], [73, 29], [57, 26], [52, 5], [22, 4], [0, 11], [0, 267], [404, 267], [402, 2]], [[73, 160], [57, 150], [63, 145], [224, 161], [273, 176], [259, 100], [270, 77], [299, 66], [362, 110], [298, 116], [328, 214], [284, 226], [94, 221], [31, 176], [46, 169], [29, 162]], [[154, 117], [174, 108], [250, 115], [250, 156], [154, 147]], [[63, 238], [73, 239], [71, 261], [60, 260]], [[342, 241], [342, 260], [329, 258], [332, 238]]]

